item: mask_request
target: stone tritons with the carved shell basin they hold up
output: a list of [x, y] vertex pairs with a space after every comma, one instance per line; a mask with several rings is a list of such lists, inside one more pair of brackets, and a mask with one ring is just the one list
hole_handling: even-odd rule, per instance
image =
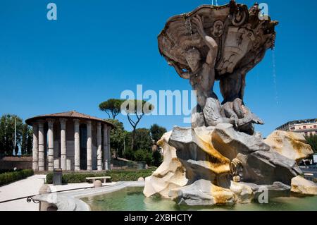
[[[197, 91], [192, 127], [232, 123], [252, 135], [263, 124], [243, 102], [247, 72], [263, 59], [275, 41], [276, 21], [260, 20], [259, 6], [230, 1], [225, 6], [199, 6], [168, 20], [159, 35], [159, 49], [180, 77]], [[213, 92], [220, 80], [223, 102]]]

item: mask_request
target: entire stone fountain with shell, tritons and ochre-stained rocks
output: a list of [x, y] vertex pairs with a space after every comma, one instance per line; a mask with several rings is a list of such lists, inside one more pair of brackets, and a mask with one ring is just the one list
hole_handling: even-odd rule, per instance
[[[291, 193], [317, 195], [297, 163], [313, 154], [304, 136], [275, 131], [266, 140], [263, 124], [244, 104], [247, 73], [275, 44], [271, 18], [230, 1], [203, 5], [173, 16], [159, 34], [159, 51], [197, 91], [192, 127], [163, 135], [161, 166], [146, 178], [144, 195], [161, 195], [180, 205], [235, 205]], [[213, 92], [220, 81], [223, 102]]]

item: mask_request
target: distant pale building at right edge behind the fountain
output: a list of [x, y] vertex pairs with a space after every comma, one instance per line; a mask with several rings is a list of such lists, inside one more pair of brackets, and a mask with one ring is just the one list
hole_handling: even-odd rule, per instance
[[292, 131], [303, 135], [317, 135], [317, 118], [300, 121], [290, 121], [276, 128], [276, 130]]

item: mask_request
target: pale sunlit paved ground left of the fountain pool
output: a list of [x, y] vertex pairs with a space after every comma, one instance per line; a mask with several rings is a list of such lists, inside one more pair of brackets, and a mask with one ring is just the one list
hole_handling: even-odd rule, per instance
[[[45, 175], [30, 176], [21, 181], [10, 183], [7, 186], [0, 187], [0, 202], [11, 200], [19, 197], [26, 197], [30, 195], [37, 195], [39, 188], [44, 184]], [[107, 183], [111, 186], [114, 183]], [[93, 185], [91, 183], [71, 183], [64, 186], [51, 186], [52, 192], [60, 190], [70, 190], [75, 188], [89, 188]], [[0, 203], [0, 211], [37, 211], [39, 205], [34, 202], [27, 202], [26, 198], [23, 200], [15, 200], [13, 202]]]

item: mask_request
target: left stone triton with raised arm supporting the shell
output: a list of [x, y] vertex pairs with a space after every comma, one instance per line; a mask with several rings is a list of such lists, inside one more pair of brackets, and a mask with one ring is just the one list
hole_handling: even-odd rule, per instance
[[[232, 119], [225, 118], [224, 115], [221, 115], [218, 97], [213, 92], [216, 77], [215, 64], [218, 54], [218, 44], [215, 39], [206, 35], [203, 25], [204, 21], [200, 16], [194, 16], [194, 18], [192, 18], [192, 23], [197, 27], [201, 39], [203, 39], [206, 46], [209, 47], [206, 61], [201, 61], [199, 50], [193, 47], [185, 52], [185, 59], [190, 68], [189, 71], [183, 71], [174, 62], [170, 62], [170, 65], [175, 68], [178, 75], [180, 75], [181, 78], [189, 79], [192, 89], [197, 92], [198, 105], [192, 114], [192, 126], [216, 126], [216, 123], [233, 123]], [[222, 24], [218, 23], [216, 26], [219, 27], [222, 26]], [[219, 29], [217, 29], [217, 32], [219, 32]], [[209, 108], [213, 108], [211, 110], [214, 111], [212, 114], [213, 118], [211, 119], [206, 119], [206, 113], [204, 114], [208, 99], [211, 103], [209, 104]], [[210, 109], [206, 110], [210, 111]], [[211, 114], [209, 114], [209, 116], [211, 116]]]

